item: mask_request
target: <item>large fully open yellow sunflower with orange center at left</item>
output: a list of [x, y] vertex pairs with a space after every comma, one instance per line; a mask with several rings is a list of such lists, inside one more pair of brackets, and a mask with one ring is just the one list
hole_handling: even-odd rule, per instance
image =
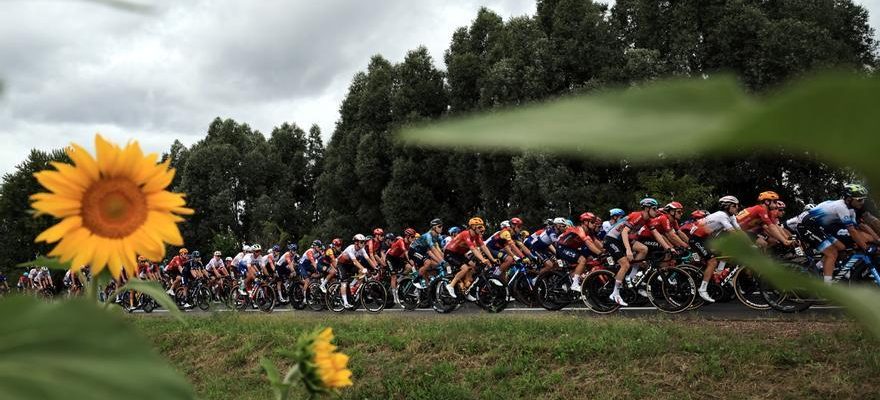
[[144, 155], [137, 141], [125, 148], [95, 135], [97, 157], [72, 143], [65, 151], [73, 164], [52, 162], [55, 170], [34, 177], [47, 192], [31, 196], [36, 215], [49, 214], [59, 223], [37, 236], [37, 242], [59, 242], [49, 253], [74, 270], [90, 265], [97, 274], [105, 267], [114, 277], [124, 268], [133, 275], [138, 255], [159, 261], [165, 243], [181, 246], [179, 215], [189, 215], [183, 195], [165, 190], [174, 178], [170, 160], [157, 164], [155, 153]]

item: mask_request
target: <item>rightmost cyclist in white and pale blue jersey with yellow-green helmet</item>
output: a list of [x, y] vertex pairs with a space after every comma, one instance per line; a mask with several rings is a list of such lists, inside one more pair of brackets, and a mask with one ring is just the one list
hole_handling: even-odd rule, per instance
[[868, 254], [877, 251], [869, 246], [862, 228], [856, 220], [856, 210], [865, 205], [868, 190], [862, 185], [848, 184], [843, 188], [843, 198], [820, 203], [809, 211], [800, 224], [800, 233], [807, 242], [822, 253], [822, 274], [825, 283], [831, 283], [837, 255], [846, 246], [838, 238], [837, 231], [845, 229], [852, 241]]

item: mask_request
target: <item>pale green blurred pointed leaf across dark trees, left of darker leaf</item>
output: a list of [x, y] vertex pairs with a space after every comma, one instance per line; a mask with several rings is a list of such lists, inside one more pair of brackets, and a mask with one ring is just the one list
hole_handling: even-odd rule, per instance
[[415, 144], [594, 157], [686, 155], [735, 139], [753, 105], [730, 77], [671, 80], [407, 128]]

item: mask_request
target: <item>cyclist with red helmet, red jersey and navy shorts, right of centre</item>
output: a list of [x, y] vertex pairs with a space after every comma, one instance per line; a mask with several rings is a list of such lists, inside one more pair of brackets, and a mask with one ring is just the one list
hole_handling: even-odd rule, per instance
[[591, 212], [578, 218], [580, 225], [568, 228], [556, 241], [556, 255], [559, 259], [574, 265], [571, 272], [571, 290], [581, 290], [581, 274], [587, 266], [587, 259], [602, 254], [602, 244], [596, 239], [601, 219]]

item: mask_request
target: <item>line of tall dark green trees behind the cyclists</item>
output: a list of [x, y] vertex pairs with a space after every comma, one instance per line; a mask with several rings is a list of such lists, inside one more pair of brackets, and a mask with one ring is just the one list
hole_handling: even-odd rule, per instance
[[[231, 252], [241, 241], [344, 237], [383, 226], [399, 232], [481, 215], [538, 224], [585, 209], [631, 207], [642, 196], [712, 206], [774, 188], [795, 203], [836, 195], [852, 173], [782, 150], [636, 164], [542, 153], [448, 151], [393, 139], [407, 124], [492, 110], [665, 76], [735, 74], [763, 95], [817, 68], [873, 71], [877, 43], [864, 8], [844, 0], [538, 0], [533, 16], [504, 20], [480, 9], [455, 30], [437, 68], [424, 47], [392, 63], [373, 56], [352, 78], [324, 147], [321, 131], [281, 124], [268, 138], [217, 118], [204, 139], [171, 145], [173, 190], [196, 214], [187, 246]], [[541, 135], [541, 132], [535, 132]], [[588, 146], [588, 143], [584, 144]], [[27, 215], [31, 174], [60, 152], [32, 152], [3, 177], [0, 268], [47, 249], [32, 240], [49, 223]], [[10, 245], [11, 244], [11, 245]]]

